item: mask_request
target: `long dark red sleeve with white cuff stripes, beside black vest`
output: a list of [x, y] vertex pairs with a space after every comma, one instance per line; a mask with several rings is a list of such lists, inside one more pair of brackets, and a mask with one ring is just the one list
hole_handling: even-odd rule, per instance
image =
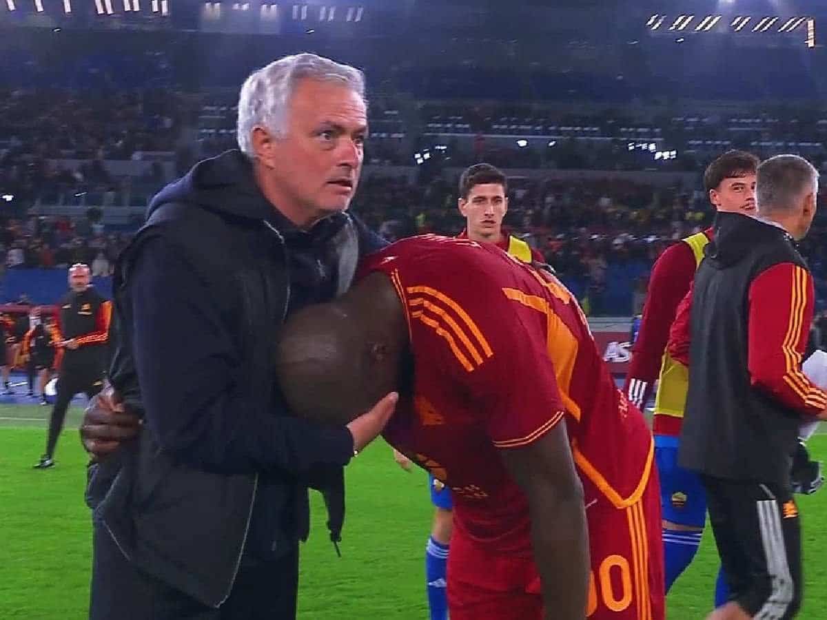
[[648, 401], [661, 370], [669, 327], [695, 277], [696, 260], [686, 243], [676, 243], [655, 261], [649, 278], [638, 341], [633, 346], [624, 392], [638, 408]]

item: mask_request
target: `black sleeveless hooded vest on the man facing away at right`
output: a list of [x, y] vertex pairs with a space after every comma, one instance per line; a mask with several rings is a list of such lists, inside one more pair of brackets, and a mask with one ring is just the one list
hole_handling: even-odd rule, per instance
[[[738, 213], [718, 214], [715, 240], [705, 248], [692, 293], [689, 392], [679, 450], [679, 462], [689, 470], [789, 486], [801, 415], [753, 386], [748, 367], [750, 287], [782, 263], [806, 267], [786, 231]], [[789, 303], [789, 290], [778, 294]]]

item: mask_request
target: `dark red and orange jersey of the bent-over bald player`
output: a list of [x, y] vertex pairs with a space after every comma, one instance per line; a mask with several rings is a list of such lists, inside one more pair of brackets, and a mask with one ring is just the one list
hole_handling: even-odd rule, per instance
[[434, 235], [398, 241], [361, 271], [390, 276], [414, 355], [414, 402], [400, 403], [385, 439], [452, 490], [463, 535], [530, 553], [528, 504], [498, 451], [564, 417], [586, 502], [640, 498], [651, 434], [556, 279], [496, 246]]

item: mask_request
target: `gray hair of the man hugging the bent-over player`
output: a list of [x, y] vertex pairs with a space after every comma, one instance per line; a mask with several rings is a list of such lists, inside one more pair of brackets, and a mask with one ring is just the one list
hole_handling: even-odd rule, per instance
[[241, 86], [236, 133], [238, 147], [245, 155], [255, 155], [251, 135], [256, 126], [284, 136], [290, 98], [299, 80], [305, 78], [341, 83], [365, 99], [365, 76], [350, 65], [308, 53], [275, 60], [253, 71]]

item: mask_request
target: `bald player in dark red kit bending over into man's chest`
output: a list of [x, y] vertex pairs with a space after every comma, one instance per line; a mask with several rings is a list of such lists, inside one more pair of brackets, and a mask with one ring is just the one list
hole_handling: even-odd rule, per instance
[[399, 390], [385, 439], [454, 498], [452, 620], [662, 620], [652, 436], [571, 293], [490, 244], [430, 235], [362, 275], [285, 324], [280, 387], [334, 424]]

